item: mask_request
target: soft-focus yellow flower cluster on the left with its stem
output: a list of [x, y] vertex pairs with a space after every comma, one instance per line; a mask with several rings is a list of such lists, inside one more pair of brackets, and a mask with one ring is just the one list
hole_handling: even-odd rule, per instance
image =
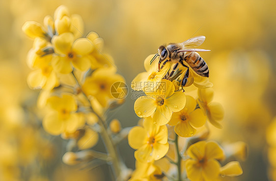
[[[22, 29], [34, 39], [28, 52], [27, 63], [33, 69], [28, 85], [41, 90], [37, 104], [45, 113], [43, 128], [69, 140], [63, 162], [111, 161], [115, 177], [127, 177], [122, 174], [124, 164], [114, 142], [126, 138], [128, 131], [122, 130], [118, 120], [109, 125], [105, 114], [124, 102], [124, 96], [116, 97], [111, 90], [114, 83], [125, 79], [116, 73], [110, 55], [102, 53], [103, 39], [93, 31], [84, 37], [82, 18], [70, 15], [63, 5], [54, 17], [44, 18], [44, 25], [30, 21]], [[91, 149], [99, 133], [107, 153]]]

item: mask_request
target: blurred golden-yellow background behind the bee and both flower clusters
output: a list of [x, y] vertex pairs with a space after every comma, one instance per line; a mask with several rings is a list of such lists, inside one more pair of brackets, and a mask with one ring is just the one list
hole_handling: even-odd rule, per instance
[[[274, 0], [0, 1], [0, 173], [5, 174], [0, 180], [25, 181], [29, 175], [34, 175], [33, 181], [47, 181], [47, 175], [54, 181], [74, 178], [66, 176], [75, 172], [61, 163], [62, 150], [55, 147], [62, 140], [46, 133], [41, 136], [42, 128], [32, 122], [38, 93], [26, 83], [30, 71], [26, 57], [32, 40], [21, 29], [26, 21], [42, 23], [61, 4], [83, 17], [84, 36], [93, 30], [105, 40], [104, 52], [114, 58], [129, 89], [133, 78], [144, 71], [144, 59], [157, 53], [161, 44], [205, 35], [199, 48], [211, 52], [200, 55], [209, 65], [215, 100], [225, 109], [223, 129], [212, 128], [211, 138], [248, 144], [248, 159], [241, 162], [244, 174], [236, 180], [269, 180], [265, 132], [276, 116]], [[113, 116], [123, 127], [138, 122], [134, 102], [129, 92], [126, 103]], [[134, 168], [134, 151], [127, 143], [121, 152], [127, 166]], [[53, 158], [51, 163], [45, 161]], [[80, 180], [99, 179], [97, 169], [85, 173], [93, 179], [79, 174]]]

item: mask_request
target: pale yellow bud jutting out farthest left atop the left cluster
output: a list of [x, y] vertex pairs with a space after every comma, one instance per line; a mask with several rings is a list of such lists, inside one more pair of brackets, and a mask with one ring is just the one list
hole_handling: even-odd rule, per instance
[[22, 30], [31, 38], [46, 37], [47, 35], [43, 27], [35, 21], [26, 22], [23, 25]]

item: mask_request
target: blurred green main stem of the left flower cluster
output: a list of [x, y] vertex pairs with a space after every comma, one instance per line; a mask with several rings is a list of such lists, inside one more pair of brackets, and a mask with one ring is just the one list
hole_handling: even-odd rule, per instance
[[90, 109], [91, 111], [98, 117], [99, 121], [99, 125], [101, 127], [101, 131], [100, 131], [100, 134], [102, 136], [102, 139], [104, 141], [104, 144], [106, 146], [106, 150], [111, 158], [111, 162], [112, 162], [112, 170], [114, 172], [114, 177], [115, 177], [115, 180], [118, 179], [118, 177], [120, 177], [120, 174], [121, 174], [121, 168], [120, 168], [120, 165], [121, 165], [121, 162], [119, 160], [119, 155], [118, 155], [118, 152], [117, 152], [117, 149], [115, 147], [115, 145], [112, 143], [111, 141], [111, 138], [107, 132], [107, 129], [105, 127], [105, 121], [102, 119], [102, 117], [100, 115], [98, 115], [94, 110], [93, 110], [93, 107], [92, 107], [92, 104], [89, 100], [89, 98], [87, 97], [87, 95], [83, 92], [82, 90], [82, 87], [77, 79], [77, 77], [75, 76], [74, 72], [72, 71], [72, 75], [77, 83], [77, 85], [80, 87], [84, 97], [86, 98], [86, 100], [88, 101], [89, 103], [89, 106], [90, 106]]

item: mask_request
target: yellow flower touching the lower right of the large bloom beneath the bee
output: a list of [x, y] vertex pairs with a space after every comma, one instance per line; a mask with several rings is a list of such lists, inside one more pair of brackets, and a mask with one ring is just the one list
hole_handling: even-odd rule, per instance
[[174, 131], [181, 137], [193, 136], [196, 132], [193, 126], [203, 126], [206, 121], [202, 111], [195, 109], [195, 106], [195, 99], [190, 95], [186, 95], [185, 107], [181, 111], [172, 114], [169, 124], [174, 126]]

